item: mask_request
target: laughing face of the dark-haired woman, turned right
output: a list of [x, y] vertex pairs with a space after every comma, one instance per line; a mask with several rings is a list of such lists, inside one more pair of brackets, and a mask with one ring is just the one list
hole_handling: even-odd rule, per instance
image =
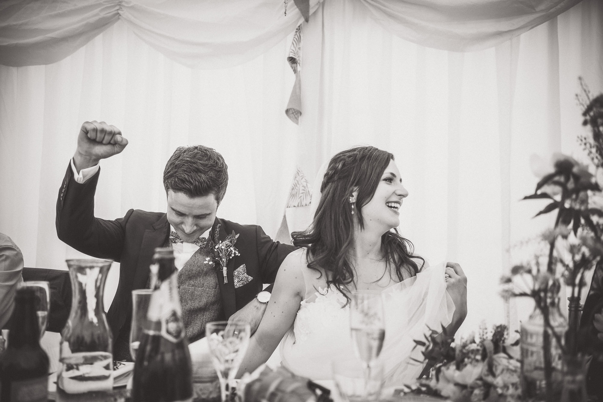
[[362, 207], [365, 226], [379, 227], [384, 233], [400, 226], [399, 209], [402, 199], [406, 196], [408, 191], [402, 185], [400, 171], [394, 161], [390, 161], [379, 180], [373, 198]]

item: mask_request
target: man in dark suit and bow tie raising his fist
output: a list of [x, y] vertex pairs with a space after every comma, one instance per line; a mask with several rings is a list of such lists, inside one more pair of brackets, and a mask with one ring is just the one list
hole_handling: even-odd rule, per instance
[[[107, 312], [113, 359], [130, 357], [131, 291], [149, 287], [156, 247], [174, 249], [189, 341], [202, 338], [205, 324], [216, 320], [245, 321], [253, 333], [270, 298], [262, 292], [262, 283], [274, 282], [280, 263], [295, 247], [271, 240], [259, 226], [216, 217], [228, 184], [227, 166], [222, 155], [204, 146], [180, 147], [169, 158], [163, 172], [167, 213], [130, 209], [116, 220], [94, 217], [98, 163], [127, 144], [115, 126], [83, 123], [57, 200], [58, 238], [87, 255], [121, 264], [118, 289]], [[212, 246], [233, 230], [239, 235], [235, 244], [239, 254], [227, 262], [225, 278]]]

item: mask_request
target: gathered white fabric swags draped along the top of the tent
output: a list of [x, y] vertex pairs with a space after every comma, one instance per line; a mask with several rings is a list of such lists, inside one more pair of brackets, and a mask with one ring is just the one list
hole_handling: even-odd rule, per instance
[[[323, 0], [308, 0], [312, 14]], [[324, 0], [329, 1], [329, 0]], [[402, 39], [449, 51], [490, 48], [580, 0], [353, 0]], [[183, 66], [217, 69], [249, 61], [303, 20], [274, 0], [7, 0], [0, 3], [0, 64], [50, 64], [122, 20]]]

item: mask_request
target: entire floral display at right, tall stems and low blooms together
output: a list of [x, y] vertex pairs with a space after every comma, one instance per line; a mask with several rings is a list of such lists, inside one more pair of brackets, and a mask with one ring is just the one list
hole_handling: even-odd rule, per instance
[[[603, 283], [603, 94], [593, 97], [584, 81], [579, 82], [582, 94], [576, 97], [583, 111], [582, 125], [589, 126], [592, 135], [581, 135], [578, 141], [591, 163], [557, 153], [549, 167], [542, 167], [542, 161], [532, 157], [533, 169], [540, 164], [540, 169], [534, 169], [540, 180], [534, 193], [524, 199], [547, 200], [535, 216], [556, 212], [555, 223], [537, 239], [541, 249], [534, 259], [515, 265], [510, 275], [501, 278], [502, 297], [530, 297], [535, 302], [528, 321], [535, 318], [532, 324], [538, 325], [531, 330], [526, 327], [525, 333], [522, 325], [523, 362], [519, 339], [505, 344], [504, 326], [494, 327], [491, 336], [481, 333], [478, 341], [463, 341], [456, 347], [446, 341], [445, 330], [444, 336], [432, 330], [425, 341], [415, 343], [426, 348], [426, 367], [434, 368], [434, 377], [423, 380], [413, 392], [455, 402], [553, 401], [561, 397], [566, 383], [576, 391], [576, 383], [584, 381], [581, 353], [595, 357], [593, 361], [601, 362], [603, 368], [603, 300], [595, 306], [589, 333], [579, 326], [586, 273], [598, 268]], [[569, 323], [558, 308], [562, 285], [570, 289]], [[532, 380], [535, 383], [529, 384]]]

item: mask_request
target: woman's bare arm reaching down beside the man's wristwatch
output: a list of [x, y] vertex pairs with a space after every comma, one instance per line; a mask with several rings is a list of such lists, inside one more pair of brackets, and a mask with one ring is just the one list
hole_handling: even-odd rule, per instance
[[306, 290], [301, 271], [305, 264], [306, 252], [300, 249], [290, 253], [280, 265], [266, 312], [251, 336], [237, 378], [265, 363], [293, 324]]

